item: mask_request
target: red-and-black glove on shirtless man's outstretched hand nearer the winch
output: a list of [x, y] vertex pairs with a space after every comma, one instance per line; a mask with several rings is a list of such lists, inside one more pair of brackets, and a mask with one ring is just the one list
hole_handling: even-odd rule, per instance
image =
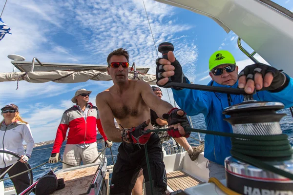
[[181, 109], [178, 108], [172, 108], [167, 114], [163, 115], [163, 118], [167, 119], [168, 122], [168, 129], [167, 129], [167, 133], [169, 134], [169, 136], [171, 137], [189, 137], [191, 132], [185, 131], [185, 135], [182, 136], [179, 133], [178, 128], [174, 129], [173, 127], [170, 127], [171, 125], [175, 125], [180, 123], [180, 125], [185, 129], [185, 128], [190, 128], [190, 124], [189, 121], [186, 117], [186, 113], [184, 112], [183, 116], [180, 116], [177, 114], [178, 111], [180, 111]]

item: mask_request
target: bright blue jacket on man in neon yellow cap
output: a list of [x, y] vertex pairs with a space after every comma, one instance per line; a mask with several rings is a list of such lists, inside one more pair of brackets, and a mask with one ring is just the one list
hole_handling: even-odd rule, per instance
[[[289, 78], [289, 77], [287, 77]], [[189, 80], [188, 80], [188, 83]], [[233, 86], [220, 85], [214, 81], [210, 81], [208, 85], [220, 87], [237, 88], [238, 81]], [[230, 117], [223, 115], [222, 112], [230, 105], [238, 104], [243, 101], [242, 95], [230, 95], [230, 105], [228, 95], [223, 93], [206, 92], [191, 89], [175, 90], [172, 89], [174, 99], [181, 109], [188, 116], [194, 116], [202, 113], [205, 116], [207, 130], [233, 133], [230, 123], [223, 120]], [[282, 91], [270, 93], [268, 91], [260, 91], [253, 95], [255, 100], [277, 101], [282, 102], [285, 108], [293, 106], [293, 78], [287, 87]], [[213, 162], [224, 165], [224, 160], [230, 155], [231, 141], [230, 137], [213, 136], [206, 134], [205, 136], [205, 157]]]

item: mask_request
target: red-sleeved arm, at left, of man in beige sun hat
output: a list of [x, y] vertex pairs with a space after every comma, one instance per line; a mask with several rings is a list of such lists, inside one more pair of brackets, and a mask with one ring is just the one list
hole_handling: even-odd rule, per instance
[[68, 126], [69, 126], [69, 119], [67, 117], [67, 114], [63, 113], [63, 116], [61, 118], [61, 122], [58, 126], [58, 129], [57, 129], [52, 154], [60, 152], [61, 145], [66, 137], [66, 132], [67, 132]]

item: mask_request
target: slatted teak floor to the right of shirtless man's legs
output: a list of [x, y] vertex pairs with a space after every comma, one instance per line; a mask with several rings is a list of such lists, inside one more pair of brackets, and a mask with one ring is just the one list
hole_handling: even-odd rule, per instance
[[173, 191], [185, 190], [204, 183], [183, 171], [173, 171], [167, 173], [167, 184]]

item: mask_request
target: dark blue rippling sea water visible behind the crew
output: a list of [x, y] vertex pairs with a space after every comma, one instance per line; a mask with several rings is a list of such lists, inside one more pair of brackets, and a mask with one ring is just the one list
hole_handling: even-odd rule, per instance
[[[289, 109], [284, 109], [279, 112], [287, 114], [287, 116], [282, 118], [282, 120], [280, 121], [280, 124], [281, 124], [282, 132], [289, 136], [290, 143], [293, 146], [293, 126], [292, 126], [293, 125], [293, 117], [291, 115], [291, 112]], [[192, 120], [193, 128], [196, 128], [196, 129], [206, 129], [207, 128], [206, 124], [205, 124], [205, 118], [202, 114], [191, 117], [191, 120]], [[57, 127], [56, 127], [56, 130], [57, 130]], [[98, 135], [98, 136], [100, 136], [100, 135]], [[190, 136], [199, 139], [198, 133], [192, 132]], [[196, 143], [196, 144], [199, 143], [197, 140], [192, 139], [191, 137], [188, 138], [189, 143]], [[200, 134], [200, 137], [202, 140], [204, 140], [205, 134]], [[65, 144], [66, 143], [63, 142], [63, 146], [61, 147], [61, 150], [60, 150], [61, 155], [64, 152]], [[114, 161], [116, 161], [116, 159], [117, 159], [119, 145], [120, 145], [120, 143], [113, 143], [113, 146], [112, 146]], [[36, 167], [44, 162], [47, 162], [50, 155], [51, 155], [52, 147], [53, 147], [53, 144], [44, 145], [41, 147], [34, 148], [33, 153], [32, 153], [32, 157], [29, 159], [30, 166], [33, 168], [33, 167]], [[39, 149], [42, 149], [42, 150], [39, 150]], [[110, 149], [107, 148], [105, 150], [105, 152], [106, 152], [108, 165], [112, 165], [113, 160], [111, 157]], [[55, 168], [55, 167], [58, 167], [57, 170], [62, 169], [62, 163], [61, 162], [58, 162], [55, 164], [47, 163], [47, 164], [33, 170], [34, 181], [36, 179], [38, 179], [39, 177], [41, 177], [42, 175], [46, 174], [50, 169]], [[7, 177], [7, 176], [8, 175], [6, 175], [5, 177]], [[4, 181], [5, 187], [11, 186], [11, 185], [13, 185], [13, 183], [10, 181], [10, 179], [7, 179]]]

